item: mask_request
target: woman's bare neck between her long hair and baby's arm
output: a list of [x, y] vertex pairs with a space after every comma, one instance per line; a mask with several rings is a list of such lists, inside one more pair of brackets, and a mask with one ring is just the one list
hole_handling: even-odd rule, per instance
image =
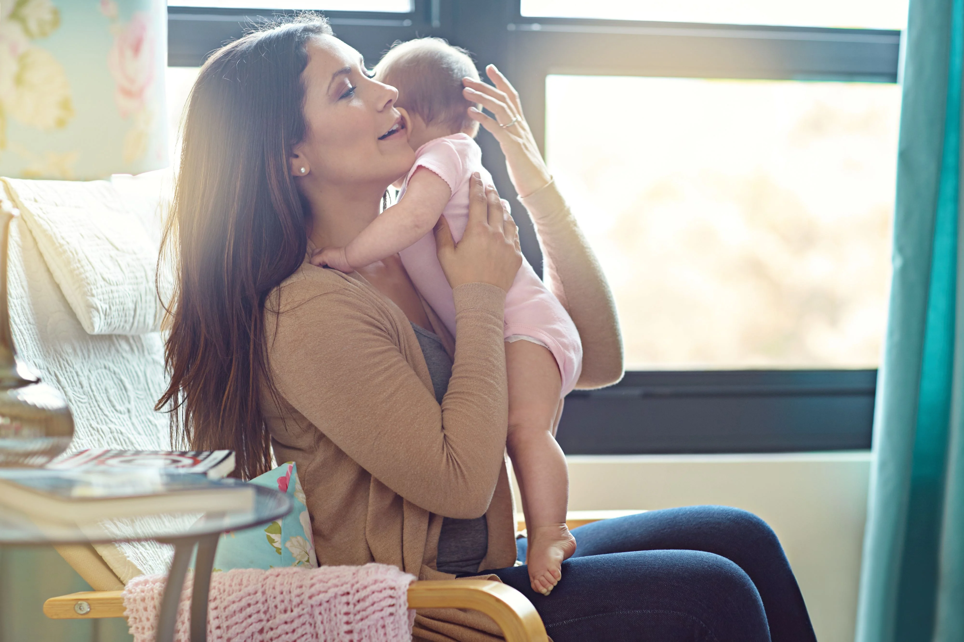
[[311, 206], [308, 238], [316, 247], [344, 247], [374, 220], [381, 210], [384, 192], [322, 188], [306, 191]]

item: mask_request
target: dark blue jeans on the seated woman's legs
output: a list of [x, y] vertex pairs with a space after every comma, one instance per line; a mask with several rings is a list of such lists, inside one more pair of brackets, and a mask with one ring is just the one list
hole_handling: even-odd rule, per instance
[[668, 508], [573, 535], [576, 554], [548, 597], [524, 566], [489, 571], [533, 603], [554, 642], [816, 642], [780, 542], [752, 513]]

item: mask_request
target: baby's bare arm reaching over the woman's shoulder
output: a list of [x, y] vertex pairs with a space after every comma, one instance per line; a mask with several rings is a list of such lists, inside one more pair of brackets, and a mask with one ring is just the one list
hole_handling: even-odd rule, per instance
[[350, 272], [396, 254], [428, 234], [442, 216], [452, 190], [439, 174], [418, 167], [401, 200], [371, 221], [345, 247], [325, 247], [311, 263]]

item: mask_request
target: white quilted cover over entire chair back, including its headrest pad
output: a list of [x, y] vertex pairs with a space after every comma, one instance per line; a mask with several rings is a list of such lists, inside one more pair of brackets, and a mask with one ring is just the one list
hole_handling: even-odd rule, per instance
[[[4, 182], [21, 211], [9, 237], [13, 343], [67, 398], [67, 452], [171, 449], [168, 417], [154, 410], [167, 382], [164, 340], [153, 331], [156, 244], [107, 183]], [[96, 548], [121, 580], [165, 573], [171, 557], [150, 542]]]

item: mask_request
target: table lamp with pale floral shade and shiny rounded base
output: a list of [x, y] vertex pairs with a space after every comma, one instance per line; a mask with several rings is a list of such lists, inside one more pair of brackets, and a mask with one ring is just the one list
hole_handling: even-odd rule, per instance
[[[0, 175], [90, 180], [168, 165], [165, 0], [0, 0]], [[0, 188], [2, 190], [2, 188]], [[0, 192], [0, 467], [70, 444], [64, 397], [17, 363]]]

